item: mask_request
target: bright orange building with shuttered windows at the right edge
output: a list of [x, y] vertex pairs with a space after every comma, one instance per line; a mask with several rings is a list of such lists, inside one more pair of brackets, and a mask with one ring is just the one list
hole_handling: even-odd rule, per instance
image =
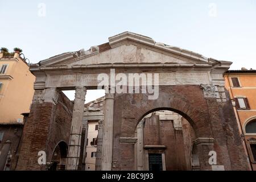
[[250, 168], [256, 171], [256, 70], [230, 70], [224, 74], [224, 78], [244, 138]]

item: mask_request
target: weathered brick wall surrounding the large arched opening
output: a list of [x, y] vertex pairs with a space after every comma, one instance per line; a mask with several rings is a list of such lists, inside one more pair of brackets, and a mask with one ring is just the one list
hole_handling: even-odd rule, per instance
[[120, 137], [134, 137], [141, 119], [151, 111], [172, 110], [186, 118], [196, 138], [214, 138], [214, 145], [198, 145], [201, 169], [210, 169], [209, 151], [217, 152], [217, 164], [226, 170], [247, 170], [232, 104], [204, 98], [200, 86], [160, 86], [159, 98], [146, 94], [116, 94], [114, 102], [113, 169], [134, 170], [134, 144], [120, 143]]

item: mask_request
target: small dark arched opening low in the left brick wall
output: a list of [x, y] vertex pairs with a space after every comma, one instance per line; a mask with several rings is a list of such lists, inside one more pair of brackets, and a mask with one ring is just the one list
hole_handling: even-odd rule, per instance
[[65, 170], [67, 162], [68, 145], [64, 141], [59, 142], [52, 153], [50, 171]]

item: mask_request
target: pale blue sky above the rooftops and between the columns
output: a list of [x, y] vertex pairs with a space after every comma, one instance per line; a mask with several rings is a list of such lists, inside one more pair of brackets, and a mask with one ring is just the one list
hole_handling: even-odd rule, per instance
[[[22, 48], [31, 63], [131, 31], [232, 61], [230, 69], [256, 69], [256, 0], [0, 0], [0, 16], [0, 47]], [[86, 102], [103, 95], [88, 90]]]

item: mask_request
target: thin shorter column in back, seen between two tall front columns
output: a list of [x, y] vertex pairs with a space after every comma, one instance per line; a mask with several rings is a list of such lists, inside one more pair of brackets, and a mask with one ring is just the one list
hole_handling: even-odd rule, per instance
[[101, 171], [101, 155], [102, 155], [102, 137], [103, 137], [103, 122], [98, 121], [98, 137], [97, 137], [97, 153], [96, 153], [96, 171]]

